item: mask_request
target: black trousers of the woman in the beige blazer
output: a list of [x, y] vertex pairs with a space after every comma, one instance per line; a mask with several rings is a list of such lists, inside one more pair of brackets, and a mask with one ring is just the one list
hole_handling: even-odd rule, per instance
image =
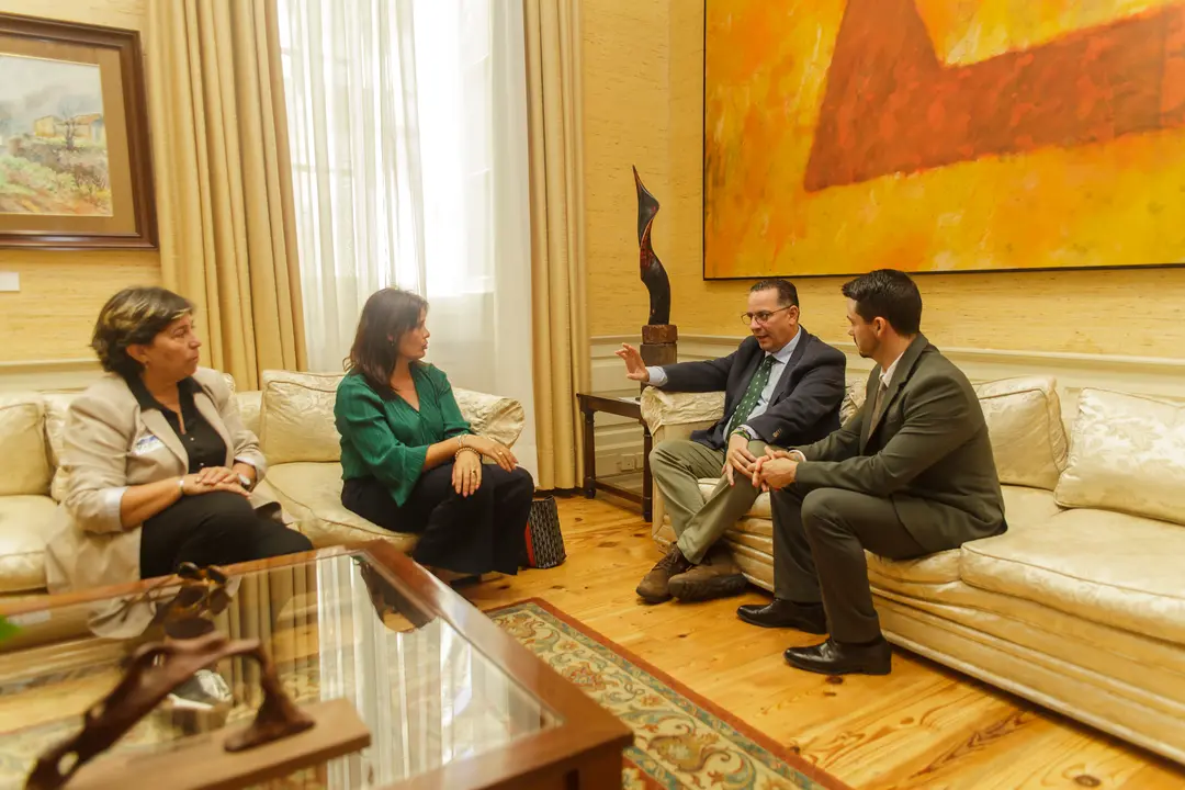
[[211, 492], [182, 496], [140, 527], [140, 578], [309, 551], [308, 538], [255, 512], [245, 496]]

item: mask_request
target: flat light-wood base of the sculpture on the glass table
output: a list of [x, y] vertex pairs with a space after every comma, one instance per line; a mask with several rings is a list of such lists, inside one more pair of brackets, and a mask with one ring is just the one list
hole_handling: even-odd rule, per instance
[[113, 753], [89, 763], [71, 777], [71, 790], [126, 788], [135, 777], [137, 788], [212, 790], [245, 788], [280, 779], [293, 771], [350, 754], [370, 745], [370, 731], [345, 699], [301, 706], [314, 725], [305, 732], [248, 751], [229, 752], [226, 741], [246, 725], [197, 736], [156, 753]]

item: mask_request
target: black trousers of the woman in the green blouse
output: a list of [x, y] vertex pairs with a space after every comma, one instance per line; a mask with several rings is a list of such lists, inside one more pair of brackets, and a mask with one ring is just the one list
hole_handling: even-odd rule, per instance
[[419, 534], [411, 555], [422, 565], [480, 576], [518, 573], [526, 545], [534, 481], [525, 469], [481, 467], [481, 486], [469, 496], [453, 489], [453, 464], [419, 475], [403, 506], [373, 477], [347, 480], [341, 503], [391, 532]]

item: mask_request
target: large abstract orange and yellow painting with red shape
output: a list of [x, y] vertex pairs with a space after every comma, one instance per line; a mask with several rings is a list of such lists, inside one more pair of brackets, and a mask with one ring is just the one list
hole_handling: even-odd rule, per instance
[[705, 4], [705, 278], [1185, 262], [1185, 0]]

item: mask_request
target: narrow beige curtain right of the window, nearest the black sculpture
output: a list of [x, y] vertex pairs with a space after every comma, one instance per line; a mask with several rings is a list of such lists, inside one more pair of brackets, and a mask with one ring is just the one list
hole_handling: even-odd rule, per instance
[[579, 482], [576, 393], [589, 381], [578, 0], [524, 0], [531, 317], [542, 489]]

